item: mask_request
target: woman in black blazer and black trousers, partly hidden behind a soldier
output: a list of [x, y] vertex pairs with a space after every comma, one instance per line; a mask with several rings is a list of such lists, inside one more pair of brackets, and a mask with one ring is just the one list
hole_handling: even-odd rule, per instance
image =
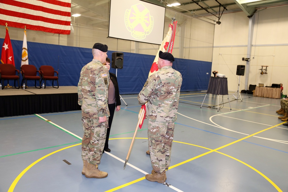
[[[109, 71], [110, 70], [110, 59], [106, 58], [106, 63], [103, 63], [103, 65], [105, 65]], [[116, 111], [120, 111], [120, 105], [121, 105], [117, 77], [114, 73], [109, 73], [109, 76], [110, 76], [110, 82], [109, 82], [109, 89], [108, 89], [108, 108], [110, 111], [110, 117], [108, 119], [109, 128], [107, 129], [106, 141], [105, 141], [105, 146], [104, 146], [103, 152], [104, 151], [106, 151], [106, 152], [111, 151], [108, 148], [108, 140], [109, 140], [111, 125], [112, 125], [112, 121], [113, 121], [114, 111], [115, 111], [115, 108], [116, 108]]]

